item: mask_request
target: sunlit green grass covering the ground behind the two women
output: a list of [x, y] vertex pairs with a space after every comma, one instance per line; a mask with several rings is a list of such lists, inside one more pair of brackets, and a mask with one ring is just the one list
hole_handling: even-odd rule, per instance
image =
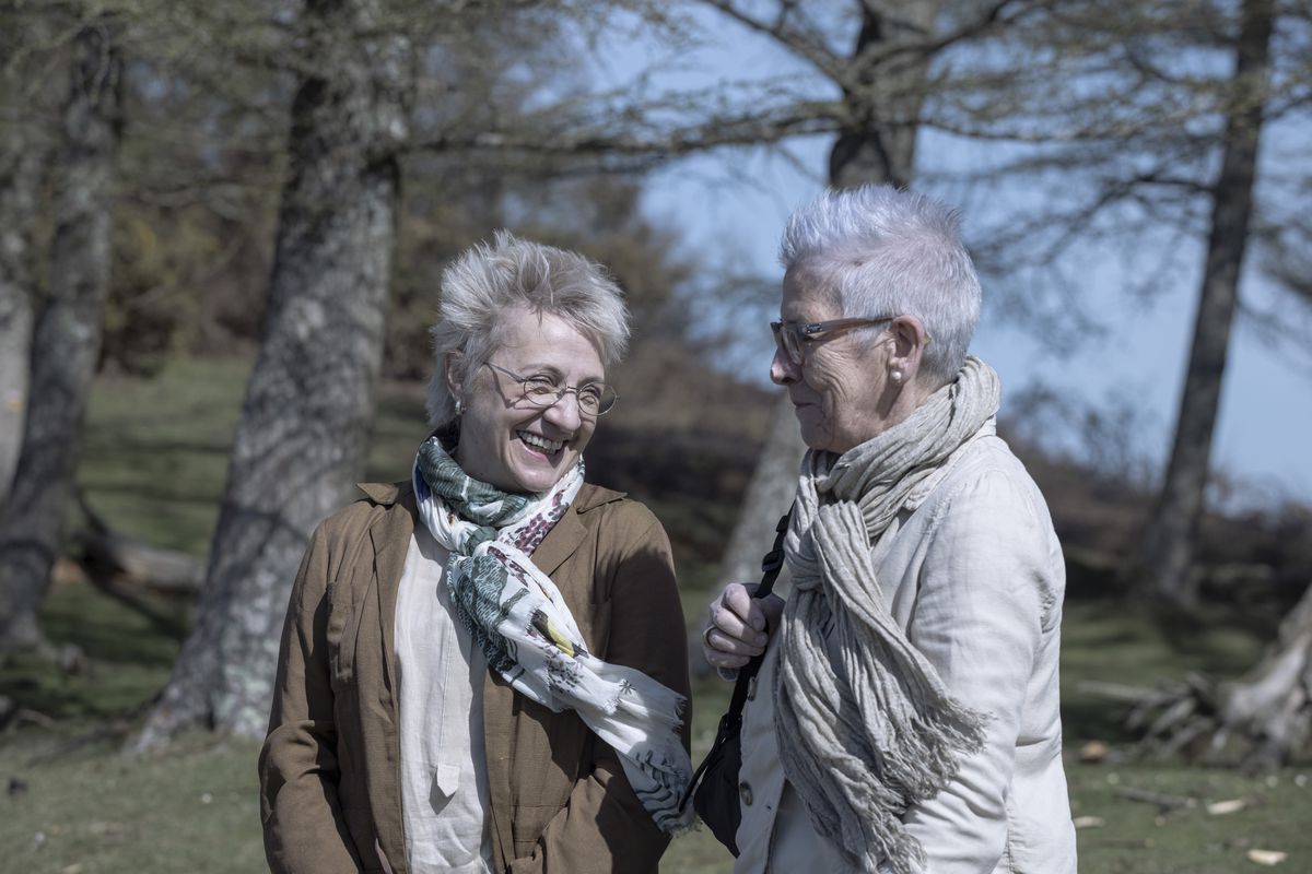
[[[101, 380], [79, 472], [91, 504], [125, 532], [203, 554], [244, 375], [240, 363], [181, 362], [152, 383]], [[424, 431], [420, 409], [415, 389], [387, 390], [371, 478], [404, 474]], [[710, 583], [705, 562], [693, 567], [684, 592], [690, 613]], [[0, 873], [262, 870], [257, 744], [197, 732], [159, 755], [118, 755], [140, 706], [167, 679], [188, 620], [184, 603], [150, 598], [144, 605], [129, 609], [84, 582], [62, 582], [47, 603], [46, 626], [56, 641], [84, 650], [83, 670], [62, 675], [21, 658], [0, 664], [0, 694], [25, 708], [0, 735], [0, 780], [8, 786], [0, 799]], [[1189, 670], [1235, 675], [1261, 649], [1252, 634], [1228, 628], [1168, 639], [1141, 613], [1103, 600], [1068, 603], [1064, 636], [1072, 753], [1086, 740], [1114, 750], [1124, 740], [1119, 710], [1081, 692], [1080, 680], [1151, 684]], [[715, 680], [697, 688], [698, 757], [726, 696], [726, 684]], [[1081, 764], [1072, 755], [1068, 776], [1075, 814], [1088, 824], [1078, 832], [1085, 874], [1266, 870], [1248, 858], [1250, 850], [1287, 853], [1274, 870], [1312, 870], [1312, 785], [1298, 768], [1245, 777], [1115, 756]], [[1153, 797], [1164, 805], [1141, 801]], [[1165, 805], [1172, 799], [1178, 806]], [[1208, 812], [1208, 805], [1225, 801], [1242, 805]], [[731, 870], [731, 860], [699, 832], [672, 845], [663, 870], [711, 874]]]

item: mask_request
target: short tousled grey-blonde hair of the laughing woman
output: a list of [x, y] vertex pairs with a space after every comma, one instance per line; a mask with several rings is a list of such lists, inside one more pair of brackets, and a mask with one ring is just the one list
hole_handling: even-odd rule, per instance
[[501, 347], [505, 314], [517, 308], [572, 324], [597, 345], [605, 367], [628, 347], [625, 295], [605, 267], [576, 252], [497, 231], [491, 244], [475, 245], [442, 271], [429, 425], [442, 427], [455, 419], [447, 352], [459, 352], [455, 379], [468, 392], [478, 370]]

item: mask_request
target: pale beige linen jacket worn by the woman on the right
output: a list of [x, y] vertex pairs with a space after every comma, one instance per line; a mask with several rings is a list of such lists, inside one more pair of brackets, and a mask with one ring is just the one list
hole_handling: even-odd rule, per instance
[[[1075, 874], [1057, 688], [1065, 563], [1043, 495], [992, 419], [909, 495], [871, 558], [907, 638], [989, 715], [984, 748], [903, 815], [925, 874]], [[733, 870], [844, 870], [779, 765], [778, 638], [743, 718]]]

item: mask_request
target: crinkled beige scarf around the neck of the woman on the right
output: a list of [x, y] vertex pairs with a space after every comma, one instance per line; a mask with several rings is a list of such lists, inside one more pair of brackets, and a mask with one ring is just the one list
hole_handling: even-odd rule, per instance
[[996, 411], [997, 375], [968, 358], [904, 422], [836, 456], [807, 452], [785, 541], [792, 595], [775, 672], [785, 773], [846, 870], [912, 874], [901, 816], [977, 751], [987, 717], [953, 700], [888, 612], [871, 548], [908, 497]]

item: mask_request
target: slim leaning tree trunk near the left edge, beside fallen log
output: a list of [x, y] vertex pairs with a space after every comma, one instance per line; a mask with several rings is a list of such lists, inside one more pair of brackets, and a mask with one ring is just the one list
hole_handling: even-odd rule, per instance
[[59, 554], [109, 292], [110, 207], [122, 59], [101, 18], [72, 43], [50, 287], [31, 347], [31, 390], [13, 485], [0, 511], [0, 649], [43, 647], [38, 611]]

